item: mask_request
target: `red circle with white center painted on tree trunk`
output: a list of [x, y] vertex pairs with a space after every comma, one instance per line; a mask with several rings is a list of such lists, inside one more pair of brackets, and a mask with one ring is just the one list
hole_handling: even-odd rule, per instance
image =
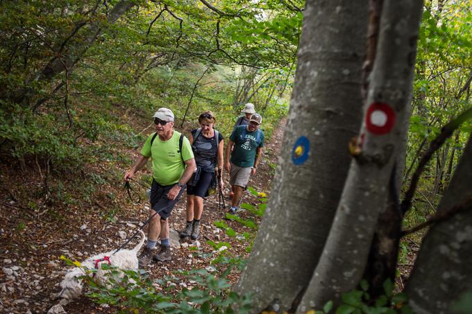
[[366, 114], [367, 131], [381, 135], [394, 128], [396, 114], [386, 103], [372, 103]]

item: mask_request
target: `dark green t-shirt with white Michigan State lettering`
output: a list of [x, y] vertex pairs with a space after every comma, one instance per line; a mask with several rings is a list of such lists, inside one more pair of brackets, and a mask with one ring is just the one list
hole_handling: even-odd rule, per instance
[[230, 140], [235, 143], [230, 162], [238, 167], [254, 166], [257, 148], [264, 146], [264, 132], [259, 129], [249, 132], [247, 125], [239, 125], [233, 129]]

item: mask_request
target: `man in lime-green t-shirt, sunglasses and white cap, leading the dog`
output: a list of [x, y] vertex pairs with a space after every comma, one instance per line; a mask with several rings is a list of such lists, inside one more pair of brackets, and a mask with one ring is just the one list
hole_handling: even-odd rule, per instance
[[[185, 184], [196, 169], [194, 153], [187, 137], [183, 137], [180, 151], [179, 132], [174, 131], [174, 114], [170, 109], [160, 108], [154, 116], [155, 133], [151, 134], [137, 157], [133, 167], [126, 171], [124, 180], [128, 181], [146, 164], [149, 157], [153, 159], [153, 184], [151, 186], [151, 211], [153, 216], [149, 223], [146, 247], [139, 256], [140, 266], [146, 266], [151, 258], [155, 261], [172, 259], [169, 241], [169, 218], [174, 205], [183, 194]], [[153, 215], [153, 211], [159, 213]], [[160, 250], [153, 255], [158, 237]]]

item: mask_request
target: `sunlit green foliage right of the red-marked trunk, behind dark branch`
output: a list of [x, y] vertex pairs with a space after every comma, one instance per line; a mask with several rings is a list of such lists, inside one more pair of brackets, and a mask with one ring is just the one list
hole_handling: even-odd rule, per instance
[[[472, 62], [472, 12], [470, 1], [448, 1], [439, 8], [425, 1], [419, 33], [412, 116], [407, 141], [406, 171], [403, 191], [419, 159], [441, 128], [470, 107], [470, 64]], [[472, 130], [468, 121], [448, 139], [418, 184], [418, 198], [405, 217], [405, 227], [424, 220], [439, 204], [450, 182], [453, 169]]]

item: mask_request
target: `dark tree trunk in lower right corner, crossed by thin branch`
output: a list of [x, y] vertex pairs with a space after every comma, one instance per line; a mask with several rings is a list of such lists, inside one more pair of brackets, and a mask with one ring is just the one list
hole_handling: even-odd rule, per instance
[[[472, 198], [472, 137], [438, 213]], [[472, 208], [430, 228], [423, 239], [406, 292], [415, 313], [453, 313], [450, 305], [472, 290]]]

